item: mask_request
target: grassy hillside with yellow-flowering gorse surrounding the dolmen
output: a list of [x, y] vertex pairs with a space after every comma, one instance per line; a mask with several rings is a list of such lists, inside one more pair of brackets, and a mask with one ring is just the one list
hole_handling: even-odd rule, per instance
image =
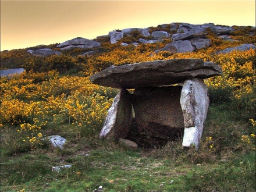
[[[1, 52], [1, 69], [26, 69], [1, 78], [1, 191], [256, 191], [255, 50], [214, 54], [255, 45], [255, 30], [233, 27], [238, 41], [208, 31], [211, 47], [192, 53], [154, 53], [169, 40], [124, 47], [104, 37], [96, 39], [102, 46], [91, 56], [81, 54], [93, 49], [48, 57], [27, 53], [36, 47]], [[139, 37], [134, 33], [120, 42]], [[56, 44], [43, 48], [59, 50]], [[222, 76], [205, 80], [210, 106], [200, 150], [183, 150], [182, 139], [136, 150], [99, 140], [118, 90], [91, 84], [88, 77], [113, 64], [174, 58], [204, 59], [223, 69]], [[45, 139], [56, 134], [67, 139], [63, 150]]]

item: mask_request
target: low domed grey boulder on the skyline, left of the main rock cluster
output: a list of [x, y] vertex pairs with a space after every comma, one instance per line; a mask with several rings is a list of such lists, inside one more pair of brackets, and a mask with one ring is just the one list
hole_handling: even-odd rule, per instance
[[81, 38], [81, 37], [77, 37], [77, 38], [73, 38], [72, 40], [67, 40], [65, 42], [62, 42], [62, 44], [59, 44], [57, 47], [59, 48], [63, 48], [63, 47], [67, 47], [70, 45], [83, 45], [82, 48], [94, 48], [94, 47], [99, 47], [101, 46], [101, 44], [97, 41], [93, 41], [93, 40], [88, 40], [86, 38]]

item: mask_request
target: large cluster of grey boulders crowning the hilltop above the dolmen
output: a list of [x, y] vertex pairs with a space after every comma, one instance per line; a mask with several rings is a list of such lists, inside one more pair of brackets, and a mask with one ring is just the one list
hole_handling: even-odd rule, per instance
[[[138, 43], [141, 44], [152, 44], [156, 42], [162, 42], [164, 40], [171, 40], [172, 43], [166, 45], [165, 48], [155, 50], [155, 53], [161, 51], [169, 51], [171, 54], [181, 53], [181, 52], [193, 52], [197, 49], [209, 47], [211, 45], [211, 41], [207, 38], [208, 30], [212, 33], [215, 33], [220, 38], [227, 41], [236, 41], [232, 40], [229, 36], [233, 33], [233, 27], [219, 26], [214, 23], [205, 23], [205, 24], [190, 24], [190, 23], [170, 23], [170, 24], [162, 24], [161, 28], [165, 28], [172, 31], [172, 35], [166, 31], [153, 31], [150, 33], [150, 28], [128, 28], [120, 31], [112, 31], [109, 32], [108, 37], [111, 37], [111, 43], [114, 44], [121, 40], [124, 35], [131, 35], [133, 31], [137, 30], [140, 32], [140, 35], [144, 35], [145, 37], [151, 37], [151, 40], [145, 40], [143, 37], [138, 39], [138, 42], [133, 42], [131, 44], [137, 46]], [[105, 35], [106, 36], [106, 35]], [[101, 36], [103, 37], [103, 36]], [[122, 45], [126, 46], [127, 44]], [[175, 49], [169, 49], [170, 46], [175, 47]], [[169, 48], [167, 48], [169, 47]]]

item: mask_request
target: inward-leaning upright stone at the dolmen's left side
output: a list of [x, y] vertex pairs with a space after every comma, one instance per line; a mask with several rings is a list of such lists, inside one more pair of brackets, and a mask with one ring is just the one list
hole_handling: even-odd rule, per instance
[[99, 133], [100, 138], [118, 140], [125, 138], [130, 130], [132, 118], [130, 93], [122, 89], [116, 95], [111, 108], [106, 116], [104, 126]]

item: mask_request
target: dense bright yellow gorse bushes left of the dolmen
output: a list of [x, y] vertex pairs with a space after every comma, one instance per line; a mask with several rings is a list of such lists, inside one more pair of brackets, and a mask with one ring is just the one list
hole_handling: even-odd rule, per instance
[[0, 124], [18, 125], [17, 134], [33, 150], [56, 125], [72, 123], [84, 134], [98, 131], [116, 93], [88, 77], [61, 77], [56, 71], [1, 78]]

